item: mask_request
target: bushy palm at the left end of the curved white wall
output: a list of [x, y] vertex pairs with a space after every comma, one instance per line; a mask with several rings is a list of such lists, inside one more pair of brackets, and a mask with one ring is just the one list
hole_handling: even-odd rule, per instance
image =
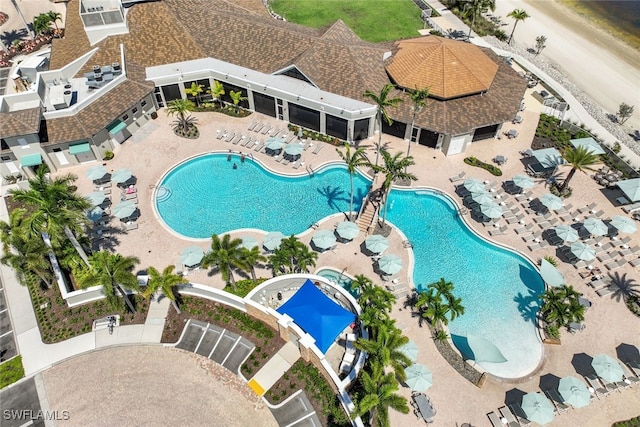
[[85, 274], [76, 277], [81, 288], [100, 285], [107, 297], [107, 302], [117, 306], [117, 295], [124, 299], [129, 310], [135, 313], [136, 309], [131, 303], [125, 289], [139, 290], [138, 279], [133, 274], [133, 269], [140, 262], [133, 256], [122, 256], [108, 251], [96, 252], [89, 258], [91, 267]]

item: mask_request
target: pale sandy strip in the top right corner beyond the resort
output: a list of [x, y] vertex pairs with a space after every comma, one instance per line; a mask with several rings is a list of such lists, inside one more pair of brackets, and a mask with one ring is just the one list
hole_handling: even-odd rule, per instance
[[495, 14], [501, 16], [507, 34], [513, 19], [507, 14], [525, 9], [529, 18], [519, 22], [512, 44], [534, 47], [540, 35], [547, 47], [540, 56], [554, 64], [578, 88], [607, 113], [615, 113], [620, 103], [636, 105], [636, 113], [625, 123], [640, 128], [640, 52], [599, 29], [585, 17], [555, 0], [501, 0]]

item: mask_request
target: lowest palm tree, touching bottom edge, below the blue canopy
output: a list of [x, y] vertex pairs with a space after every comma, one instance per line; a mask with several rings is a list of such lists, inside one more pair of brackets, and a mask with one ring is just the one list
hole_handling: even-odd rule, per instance
[[354, 415], [369, 414], [370, 425], [389, 427], [389, 408], [403, 414], [409, 413], [407, 400], [396, 393], [398, 381], [393, 373], [384, 372], [380, 364], [371, 364], [371, 372], [362, 370], [360, 373], [362, 394], [355, 402]]

